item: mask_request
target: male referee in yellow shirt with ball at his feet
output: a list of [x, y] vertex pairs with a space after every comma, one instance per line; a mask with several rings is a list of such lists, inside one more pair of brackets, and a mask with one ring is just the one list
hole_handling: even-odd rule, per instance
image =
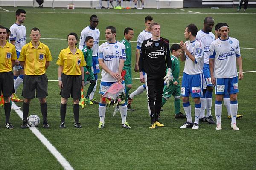
[[20, 65], [24, 68], [25, 76], [23, 81], [22, 96], [23, 102], [23, 123], [21, 128], [27, 128], [27, 117], [29, 114], [29, 104], [32, 98], [39, 98], [40, 109], [43, 116], [43, 127], [49, 128], [47, 122], [47, 86], [48, 79], [45, 71], [52, 61], [52, 55], [47, 45], [41, 43], [40, 30], [32, 28], [30, 32], [31, 41], [22, 47], [20, 52]]

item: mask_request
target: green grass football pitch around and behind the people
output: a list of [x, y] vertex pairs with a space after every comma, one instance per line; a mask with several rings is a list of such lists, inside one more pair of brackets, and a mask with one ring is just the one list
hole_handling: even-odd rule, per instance
[[[4, 7], [0, 9], [0, 24], [10, 27], [15, 23], [17, 8]], [[212, 16], [215, 23], [226, 22], [230, 26], [230, 36], [240, 41], [242, 48], [244, 71], [256, 70], [256, 9], [249, 8], [246, 12], [236, 12], [236, 9], [143, 9], [143, 10], [92, 10], [62, 8], [28, 8], [26, 34], [30, 29], [38, 27], [42, 38], [66, 39], [70, 32], [80, 35], [81, 30], [89, 25], [90, 15], [99, 17], [98, 29], [101, 31], [100, 40], [105, 40], [106, 26], [115, 26], [117, 40], [123, 38], [126, 27], [134, 29], [134, 39], [145, 28], [144, 18], [150, 14], [154, 21], [161, 24], [161, 36], [168, 38], [171, 43], [179, 43], [184, 39], [184, 29], [190, 23], [195, 23], [198, 29], [203, 26], [204, 18]], [[187, 12], [191, 10], [193, 12]], [[200, 12], [199, 14], [195, 12]], [[27, 43], [30, 39], [27, 40]], [[49, 46], [53, 61], [47, 69], [49, 80], [58, 79], [56, 61], [61, 49], [67, 47], [67, 40], [41, 39]], [[100, 41], [103, 43], [104, 41]], [[133, 49], [132, 68], [134, 69], [136, 43], [131, 43]], [[181, 65], [180, 76], [184, 63]], [[133, 78], [139, 74], [133, 72]], [[100, 76], [99, 76], [100, 78]], [[50, 129], [38, 130], [56, 147], [74, 169], [256, 169], [256, 107], [254, 83], [256, 73], [244, 73], [244, 79], [239, 81], [239, 114], [244, 117], [237, 121], [239, 131], [230, 129], [230, 120], [223, 105], [222, 130], [216, 131], [215, 125], [200, 123], [199, 130], [180, 129], [185, 122], [174, 118], [173, 98], [163, 107], [161, 122], [164, 128], [149, 130], [150, 117], [148, 115], [146, 94], [136, 96], [132, 107], [136, 112], [128, 112], [127, 121], [130, 130], [121, 127], [121, 118], [117, 114], [112, 116], [113, 108], [107, 109], [105, 129], [98, 130], [98, 106], [86, 106], [80, 109], [82, 129], [73, 127], [73, 106], [70, 98], [67, 104], [66, 129], [60, 129], [60, 102], [58, 82], [48, 82], [48, 122]], [[141, 83], [133, 81], [131, 92]], [[88, 87], [88, 86], [87, 86]], [[86, 88], [87, 88], [86, 87]], [[99, 87], [99, 82], [98, 82]], [[21, 97], [22, 86], [18, 89]], [[95, 98], [99, 100], [99, 88]], [[215, 95], [213, 96], [215, 98]], [[192, 118], [194, 119], [194, 102], [192, 104]], [[214, 102], [212, 115], [215, 119]], [[22, 106], [22, 103], [17, 103]], [[182, 104], [181, 112], [184, 113]], [[38, 99], [32, 100], [29, 115], [36, 114], [40, 118], [40, 104]], [[63, 169], [61, 164], [47, 150], [47, 148], [29, 130], [21, 130], [22, 123], [18, 115], [12, 110], [11, 122], [14, 130], [4, 127], [4, 109], [0, 108], [0, 169]]]

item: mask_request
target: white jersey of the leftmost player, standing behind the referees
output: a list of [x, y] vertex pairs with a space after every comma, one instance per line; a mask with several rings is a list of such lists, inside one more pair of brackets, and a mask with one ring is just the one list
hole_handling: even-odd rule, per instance
[[15, 41], [15, 49], [17, 52], [21, 52], [22, 47], [26, 44], [26, 27], [14, 23], [10, 27], [11, 35], [9, 40]]

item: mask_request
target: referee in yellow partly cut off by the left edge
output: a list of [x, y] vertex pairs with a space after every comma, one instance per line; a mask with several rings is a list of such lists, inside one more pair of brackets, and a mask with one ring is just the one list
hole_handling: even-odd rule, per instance
[[0, 93], [4, 97], [4, 112], [6, 116], [6, 128], [13, 129], [10, 123], [11, 115], [11, 95], [14, 91], [13, 88], [13, 72], [17, 54], [15, 46], [8, 43], [6, 40], [7, 32], [6, 28], [0, 26]]

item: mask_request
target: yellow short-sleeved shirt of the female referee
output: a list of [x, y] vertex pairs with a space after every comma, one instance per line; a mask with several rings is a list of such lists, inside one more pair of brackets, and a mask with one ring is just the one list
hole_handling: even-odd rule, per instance
[[61, 50], [57, 64], [63, 66], [65, 75], [81, 75], [80, 67], [86, 66], [83, 52], [76, 48], [76, 54], [72, 54], [69, 47]]

